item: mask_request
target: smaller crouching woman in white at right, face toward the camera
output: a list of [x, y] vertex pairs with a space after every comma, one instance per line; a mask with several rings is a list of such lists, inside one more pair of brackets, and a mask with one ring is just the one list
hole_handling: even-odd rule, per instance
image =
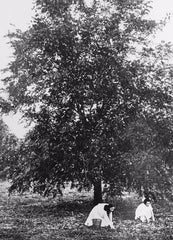
[[153, 208], [149, 198], [146, 198], [135, 211], [135, 219], [140, 219], [142, 222], [155, 221]]

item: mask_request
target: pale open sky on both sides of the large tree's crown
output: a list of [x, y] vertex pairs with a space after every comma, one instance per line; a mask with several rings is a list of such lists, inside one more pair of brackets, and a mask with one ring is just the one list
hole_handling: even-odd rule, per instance
[[[156, 41], [165, 40], [173, 43], [173, 0], [153, 0], [152, 5], [151, 18], [159, 20], [170, 14], [170, 22], [163, 32], [158, 33]], [[32, 8], [33, 0], [0, 0], [0, 70], [7, 66], [12, 56], [12, 49], [4, 36], [16, 28], [26, 30], [34, 13]], [[19, 138], [28, 131], [25, 124], [20, 121], [20, 114], [5, 116], [3, 119], [9, 130]]]

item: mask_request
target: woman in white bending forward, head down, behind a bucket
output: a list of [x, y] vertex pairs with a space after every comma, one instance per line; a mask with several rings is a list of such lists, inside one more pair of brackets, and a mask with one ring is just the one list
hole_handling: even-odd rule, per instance
[[93, 219], [100, 219], [101, 220], [101, 227], [110, 226], [114, 229], [113, 222], [112, 222], [112, 212], [114, 211], [114, 206], [108, 203], [99, 203], [97, 204], [90, 212], [85, 225], [92, 226]]

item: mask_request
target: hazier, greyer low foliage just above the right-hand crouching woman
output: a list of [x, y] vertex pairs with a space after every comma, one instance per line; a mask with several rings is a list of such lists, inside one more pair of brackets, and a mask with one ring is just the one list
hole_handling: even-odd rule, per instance
[[[143, 121], [141, 121], [143, 120]], [[132, 149], [124, 155], [131, 165], [129, 182], [131, 189], [140, 195], [155, 193], [157, 197], [172, 196], [172, 123], [165, 119], [149, 125], [144, 119], [129, 125], [126, 137]], [[169, 160], [168, 160], [169, 159]]]

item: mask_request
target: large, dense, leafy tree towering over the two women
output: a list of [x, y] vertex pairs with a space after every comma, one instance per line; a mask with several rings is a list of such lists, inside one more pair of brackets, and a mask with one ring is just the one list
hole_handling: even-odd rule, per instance
[[171, 48], [149, 42], [164, 22], [147, 18], [143, 0], [36, 0], [36, 9], [27, 31], [9, 34], [14, 60], [3, 104], [35, 124], [12, 189], [48, 194], [68, 181], [94, 186], [98, 202], [101, 181], [116, 193], [138, 188], [136, 158], [126, 157], [135, 147], [131, 123], [143, 119], [158, 135], [159, 119], [171, 118]]

